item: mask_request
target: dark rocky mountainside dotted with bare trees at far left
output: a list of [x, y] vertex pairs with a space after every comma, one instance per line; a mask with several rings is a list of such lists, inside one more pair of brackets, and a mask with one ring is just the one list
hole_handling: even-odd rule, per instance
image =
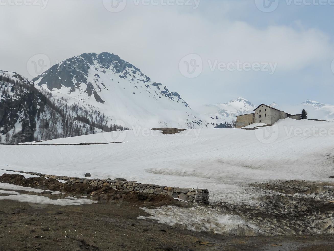
[[[100, 111], [69, 104], [15, 72], [0, 71], [0, 143], [49, 140], [117, 130]], [[124, 129], [124, 128], [121, 128]]]

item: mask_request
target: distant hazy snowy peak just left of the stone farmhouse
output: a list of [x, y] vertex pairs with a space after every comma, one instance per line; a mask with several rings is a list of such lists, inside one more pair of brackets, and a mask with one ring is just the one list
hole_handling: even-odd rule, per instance
[[255, 106], [247, 99], [239, 97], [235, 100], [230, 100], [227, 103], [215, 105], [208, 104], [200, 106], [197, 109], [203, 114], [224, 117], [227, 121], [230, 121], [232, 117], [252, 113]]

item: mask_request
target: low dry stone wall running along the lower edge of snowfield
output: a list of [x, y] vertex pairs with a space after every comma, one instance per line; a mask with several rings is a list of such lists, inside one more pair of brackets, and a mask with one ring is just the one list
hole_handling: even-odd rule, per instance
[[[13, 171], [13, 170], [7, 170], [7, 171]], [[57, 175], [46, 175], [35, 172], [23, 172], [23, 171], [13, 171], [13, 172], [26, 173], [44, 178], [64, 180], [72, 184], [83, 183], [98, 187], [108, 186], [114, 188], [115, 190], [127, 190], [129, 192], [138, 191], [148, 194], [168, 195], [173, 198], [179, 198], [188, 202], [199, 202], [199, 203], [209, 204], [209, 191], [207, 189], [179, 188], [170, 186], [159, 186], [155, 184], [143, 184], [143, 183], [138, 183], [135, 180], [127, 181], [125, 179], [120, 179], [120, 178], [113, 180], [110, 178], [89, 179], [89, 178], [66, 177]], [[195, 201], [195, 196], [196, 196], [196, 201]]]

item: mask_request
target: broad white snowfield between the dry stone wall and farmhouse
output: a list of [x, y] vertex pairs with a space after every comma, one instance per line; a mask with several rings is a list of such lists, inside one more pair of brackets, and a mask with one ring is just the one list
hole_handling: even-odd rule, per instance
[[[273, 130], [267, 131], [269, 128]], [[267, 137], [268, 132], [272, 132], [271, 137]], [[106, 142], [124, 143], [0, 145], [0, 169], [76, 177], [90, 172], [92, 178], [118, 177], [159, 185], [199, 186], [210, 190], [211, 200], [228, 202], [258, 196], [248, 187], [251, 182], [291, 179], [330, 182], [328, 177], [334, 175], [334, 122], [287, 118], [273, 127], [256, 130], [197, 129], [175, 135], [142, 130], [49, 141]]]

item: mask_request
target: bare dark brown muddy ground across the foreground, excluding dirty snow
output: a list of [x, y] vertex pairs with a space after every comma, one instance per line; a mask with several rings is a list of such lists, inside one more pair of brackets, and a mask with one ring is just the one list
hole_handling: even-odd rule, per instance
[[[53, 188], [66, 193], [62, 196], [96, 191], [96, 196], [89, 198], [99, 201], [83, 206], [38, 206], [0, 200], [0, 250], [334, 250], [333, 235], [226, 237], [137, 219], [149, 216], [140, 207], [189, 206], [169, 197], [138, 193], [122, 194], [120, 199], [119, 193], [112, 189], [101, 191], [102, 188], [89, 185], [69, 185], [44, 178], [25, 179], [20, 175], [4, 175], [0, 181]], [[104, 199], [106, 195], [112, 199]], [[256, 215], [252, 213], [252, 217]]]

